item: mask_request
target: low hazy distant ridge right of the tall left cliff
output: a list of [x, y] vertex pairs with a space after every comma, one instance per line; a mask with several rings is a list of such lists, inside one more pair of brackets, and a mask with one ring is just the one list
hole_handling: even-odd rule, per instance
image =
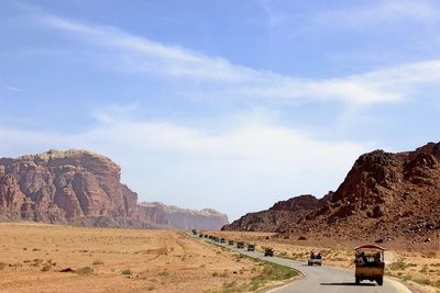
[[169, 227], [178, 229], [218, 230], [227, 225], [228, 216], [215, 210], [184, 210], [160, 202], [140, 203], [140, 207], [151, 223], [168, 223]]

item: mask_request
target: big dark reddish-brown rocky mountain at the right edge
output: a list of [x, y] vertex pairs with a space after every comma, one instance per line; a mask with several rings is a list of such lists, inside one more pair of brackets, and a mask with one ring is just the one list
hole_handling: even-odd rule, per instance
[[[285, 215], [280, 212], [271, 217]], [[260, 227], [258, 221], [239, 227], [243, 230], [249, 226]], [[362, 155], [321, 206], [283, 225], [274, 225], [271, 230], [377, 241], [397, 237], [429, 241], [432, 235], [439, 237], [440, 143], [429, 143], [414, 151], [374, 150]]]

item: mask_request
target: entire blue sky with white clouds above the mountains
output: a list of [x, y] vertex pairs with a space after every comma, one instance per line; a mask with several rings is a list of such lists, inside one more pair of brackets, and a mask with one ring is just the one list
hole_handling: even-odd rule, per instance
[[2, 0], [0, 157], [88, 149], [230, 221], [439, 142], [440, 2]]

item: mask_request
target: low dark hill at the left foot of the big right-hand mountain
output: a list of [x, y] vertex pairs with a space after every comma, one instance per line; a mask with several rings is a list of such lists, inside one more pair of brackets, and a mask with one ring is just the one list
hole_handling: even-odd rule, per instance
[[241, 218], [222, 227], [222, 230], [248, 232], [275, 232], [278, 227], [297, 222], [312, 211], [322, 207], [330, 199], [332, 192], [318, 200], [314, 195], [305, 194], [287, 201], [275, 203], [267, 211], [249, 213]]

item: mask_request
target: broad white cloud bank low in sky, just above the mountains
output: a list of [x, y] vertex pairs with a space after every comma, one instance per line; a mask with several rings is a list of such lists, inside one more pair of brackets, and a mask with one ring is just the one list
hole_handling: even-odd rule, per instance
[[23, 155], [23, 145], [34, 153], [91, 149], [120, 164], [124, 181], [142, 200], [210, 206], [237, 217], [290, 195], [320, 196], [338, 188], [354, 159], [367, 149], [351, 142], [316, 139], [266, 123], [262, 115], [237, 117], [235, 126], [217, 133], [106, 117], [75, 135], [0, 127], [0, 153]]

